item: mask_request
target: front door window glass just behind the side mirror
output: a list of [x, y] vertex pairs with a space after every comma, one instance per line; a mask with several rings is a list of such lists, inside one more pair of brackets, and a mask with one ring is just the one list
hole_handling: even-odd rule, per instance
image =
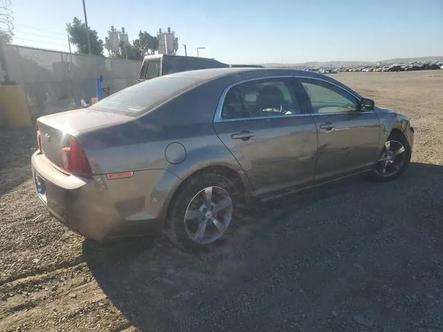
[[341, 113], [359, 110], [359, 101], [343, 89], [319, 80], [300, 80], [314, 113]]

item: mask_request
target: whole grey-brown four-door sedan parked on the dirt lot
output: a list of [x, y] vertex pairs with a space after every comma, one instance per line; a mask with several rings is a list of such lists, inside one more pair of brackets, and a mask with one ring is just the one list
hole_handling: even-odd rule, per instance
[[130, 86], [86, 109], [37, 119], [39, 200], [76, 232], [105, 241], [164, 229], [202, 247], [255, 203], [408, 167], [413, 127], [309, 71], [216, 68]]

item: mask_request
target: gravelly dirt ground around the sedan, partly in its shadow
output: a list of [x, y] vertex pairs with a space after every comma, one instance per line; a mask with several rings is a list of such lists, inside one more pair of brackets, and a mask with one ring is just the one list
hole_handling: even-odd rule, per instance
[[198, 255], [67, 230], [34, 193], [34, 130], [0, 129], [0, 331], [443, 331], [443, 71], [333, 77], [409, 116], [408, 172], [253, 206]]

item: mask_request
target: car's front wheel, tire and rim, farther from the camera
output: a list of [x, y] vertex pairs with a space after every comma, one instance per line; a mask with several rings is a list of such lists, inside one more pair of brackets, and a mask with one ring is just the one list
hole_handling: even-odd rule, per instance
[[372, 168], [375, 181], [391, 181], [406, 171], [410, 162], [410, 147], [403, 135], [391, 133]]

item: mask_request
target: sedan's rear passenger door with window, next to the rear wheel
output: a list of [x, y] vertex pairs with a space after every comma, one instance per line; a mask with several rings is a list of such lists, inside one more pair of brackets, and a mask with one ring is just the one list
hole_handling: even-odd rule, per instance
[[303, 114], [291, 77], [229, 86], [215, 116], [217, 135], [235, 156], [257, 196], [314, 181], [316, 124]]

